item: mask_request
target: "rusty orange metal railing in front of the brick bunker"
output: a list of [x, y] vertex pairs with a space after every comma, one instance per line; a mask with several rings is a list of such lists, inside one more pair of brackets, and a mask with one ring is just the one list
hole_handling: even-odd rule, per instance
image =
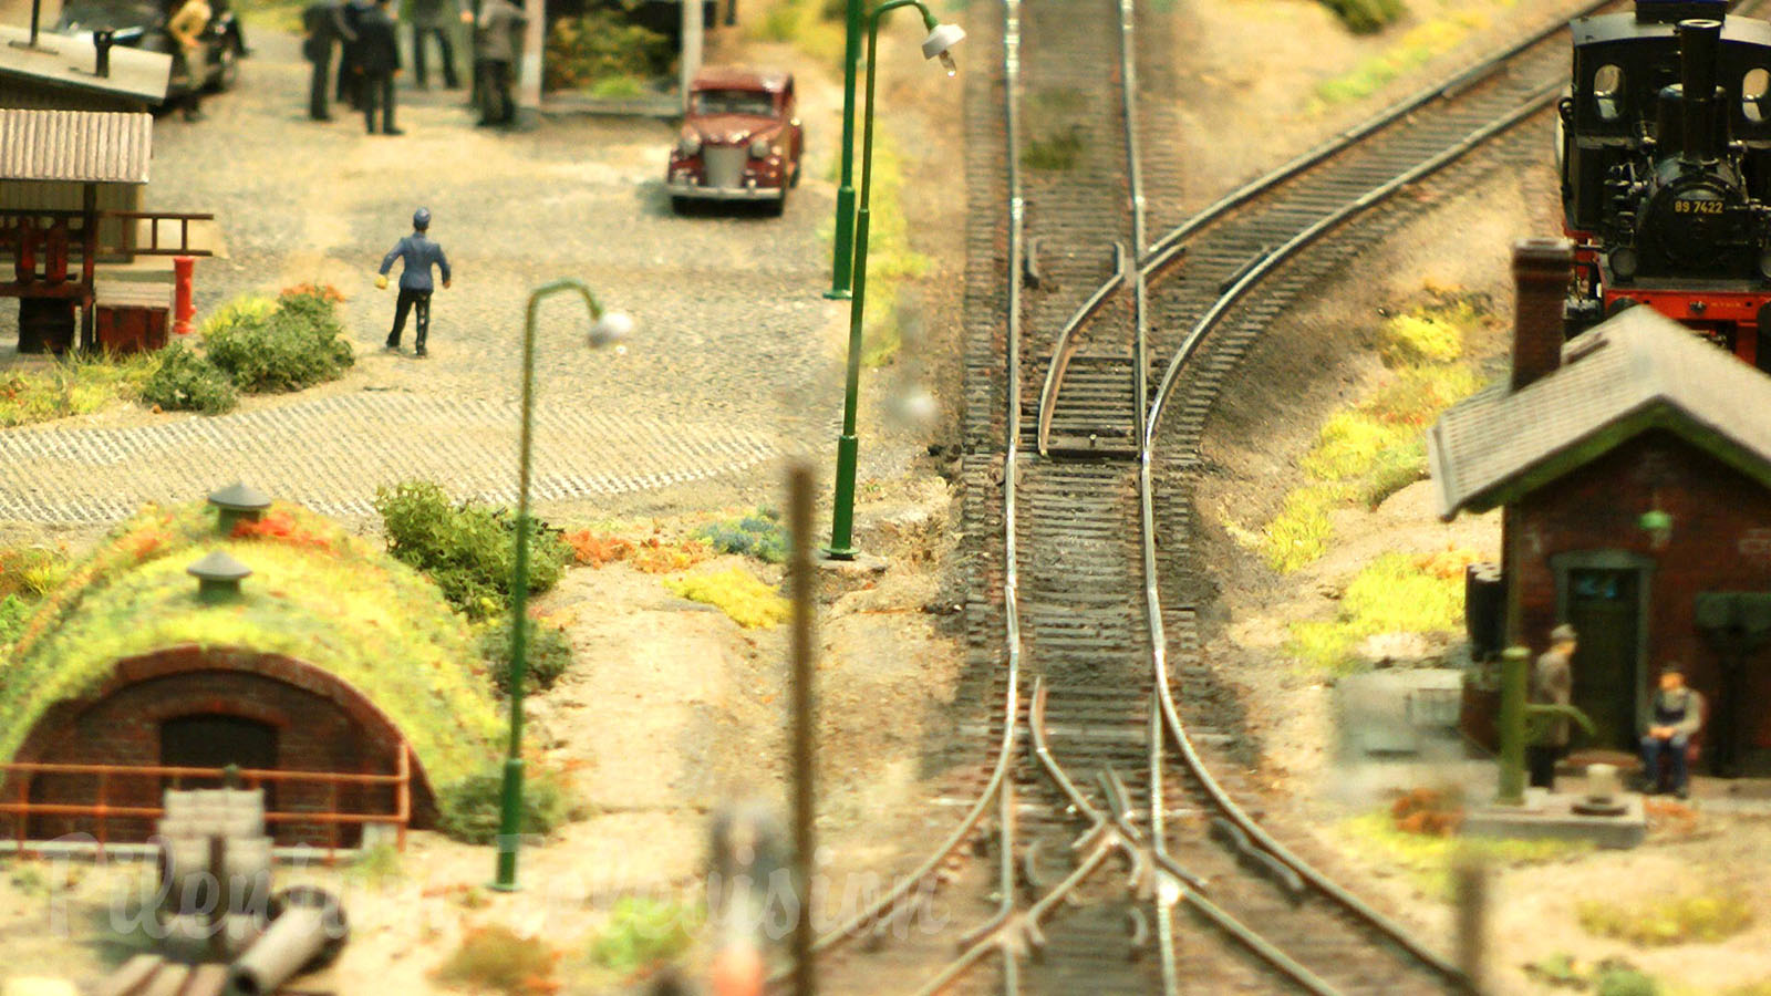
[[[18, 840], [18, 854], [34, 852], [30, 847], [30, 819], [32, 817], [85, 817], [97, 822], [97, 854], [104, 856], [104, 845], [110, 842], [110, 821], [113, 819], [159, 819], [165, 815], [161, 806], [129, 806], [129, 805], [112, 805], [110, 789], [112, 780], [119, 778], [172, 778], [172, 787], [177, 789], [186, 778], [189, 780], [221, 780], [227, 776], [227, 769], [221, 767], [177, 767], [177, 766], [151, 766], [151, 764], [39, 764], [39, 762], [14, 762], [0, 764], [0, 774], [5, 774], [5, 782], [14, 785], [16, 801], [0, 803], [0, 813], [11, 813], [14, 822], [14, 838]], [[90, 774], [97, 778], [97, 790], [92, 803], [37, 803], [30, 799], [30, 783], [35, 774]], [[331, 865], [336, 860], [338, 828], [340, 826], [393, 826], [397, 835], [397, 845], [406, 851], [406, 829], [413, 815], [413, 766], [411, 766], [411, 748], [406, 741], [400, 741], [395, 751], [395, 773], [393, 774], [351, 774], [342, 771], [283, 771], [283, 769], [241, 769], [237, 771], [241, 782], [248, 789], [255, 789], [262, 783], [319, 783], [326, 785], [326, 808], [312, 812], [266, 812], [264, 822], [267, 824], [322, 824], [326, 826], [326, 863]], [[375, 813], [375, 812], [340, 812], [338, 790], [344, 785], [388, 785], [393, 789], [393, 812]]]

